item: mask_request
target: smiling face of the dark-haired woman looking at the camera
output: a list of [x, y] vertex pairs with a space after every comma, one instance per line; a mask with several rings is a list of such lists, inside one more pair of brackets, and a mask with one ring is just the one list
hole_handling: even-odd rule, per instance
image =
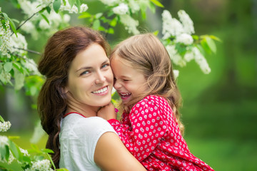
[[113, 84], [109, 58], [104, 48], [93, 43], [79, 52], [71, 62], [64, 90], [69, 103], [99, 107], [110, 103]]

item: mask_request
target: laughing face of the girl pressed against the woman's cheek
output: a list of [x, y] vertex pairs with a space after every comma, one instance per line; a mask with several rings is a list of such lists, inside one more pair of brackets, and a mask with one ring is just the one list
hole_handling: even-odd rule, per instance
[[115, 56], [111, 60], [111, 68], [114, 72], [114, 88], [124, 104], [146, 90], [146, 78], [143, 73], [138, 72], [123, 58]]

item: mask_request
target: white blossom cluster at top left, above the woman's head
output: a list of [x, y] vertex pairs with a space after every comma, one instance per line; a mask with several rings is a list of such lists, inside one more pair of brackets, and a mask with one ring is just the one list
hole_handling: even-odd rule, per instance
[[[35, 40], [38, 39], [40, 36], [38, 28], [36, 28], [38, 23], [41, 31], [44, 31], [46, 36], [50, 36], [52, 33], [58, 31], [60, 26], [69, 26], [69, 21], [71, 19], [71, 16], [69, 16], [69, 14], [78, 14], [79, 12], [82, 13], [89, 9], [86, 4], [81, 4], [79, 10], [77, 6], [71, 6], [69, 4], [69, 1], [65, 0], [65, 3], [64, 1], [61, 1], [59, 13], [56, 13], [52, 5], [54, 2], [53, 0], [36, 0], [32, 2], [28, 0], [18, 1], [26, 17], [30, 17], [33, 14], [36, 14], [37, 12], [41, 11], [41, 9], [44, 9], [46, 6], [49, 6], [51, 8], [50, 13], [48, 11], [43, 11], [41, 12], [41, 15], [36, 15], [29, 21], [21, 21], [21, 23], [24, 23], [24, 25], [21, 27], [21, 30], [25, 31], [26, 33], [30, 33], [32, 38], [34, 38]], [[69, 12], [69, 14], [62, 13], [65, 11]], [[46, 19], [42, 17], [42, 15], [44, 15]]]

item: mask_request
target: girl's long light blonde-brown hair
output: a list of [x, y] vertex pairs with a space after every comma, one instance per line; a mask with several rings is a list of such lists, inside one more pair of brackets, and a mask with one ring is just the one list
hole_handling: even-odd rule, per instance
[[152, 33], [131, 36], [114, 48], [110, 61], [117, 56], [143, 73], [148, 86], [148, 90], [129, 103], [121, 103], [121, 110], [129, 113], [133, 105], [147, 95], [160, 95], [168, 100], [181, 133], [183, 133], [184, 128], [178, 112], [181, 105], [181, 94], [173, 76], [171, 59], [161, 41]]

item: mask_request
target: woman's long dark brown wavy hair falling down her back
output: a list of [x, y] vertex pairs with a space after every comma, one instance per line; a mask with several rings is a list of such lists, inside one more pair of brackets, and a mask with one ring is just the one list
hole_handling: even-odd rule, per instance
[[46, 77], [46, 82], [39, 93], [38, 112], [41, 125], [49, 135], [46, 148], [54, 151], [51, 157], [57, 168], [60, 159], [60, 123], [67, 108], [63, 90], [68, 81], [69, 66], [76, 54], [92, 43], [98, 43], [108, 55], [109, 44], [99, 32], [91, 28], [77, 26], [57, 31], [49, 38], [39, 61], [39, 72]]

